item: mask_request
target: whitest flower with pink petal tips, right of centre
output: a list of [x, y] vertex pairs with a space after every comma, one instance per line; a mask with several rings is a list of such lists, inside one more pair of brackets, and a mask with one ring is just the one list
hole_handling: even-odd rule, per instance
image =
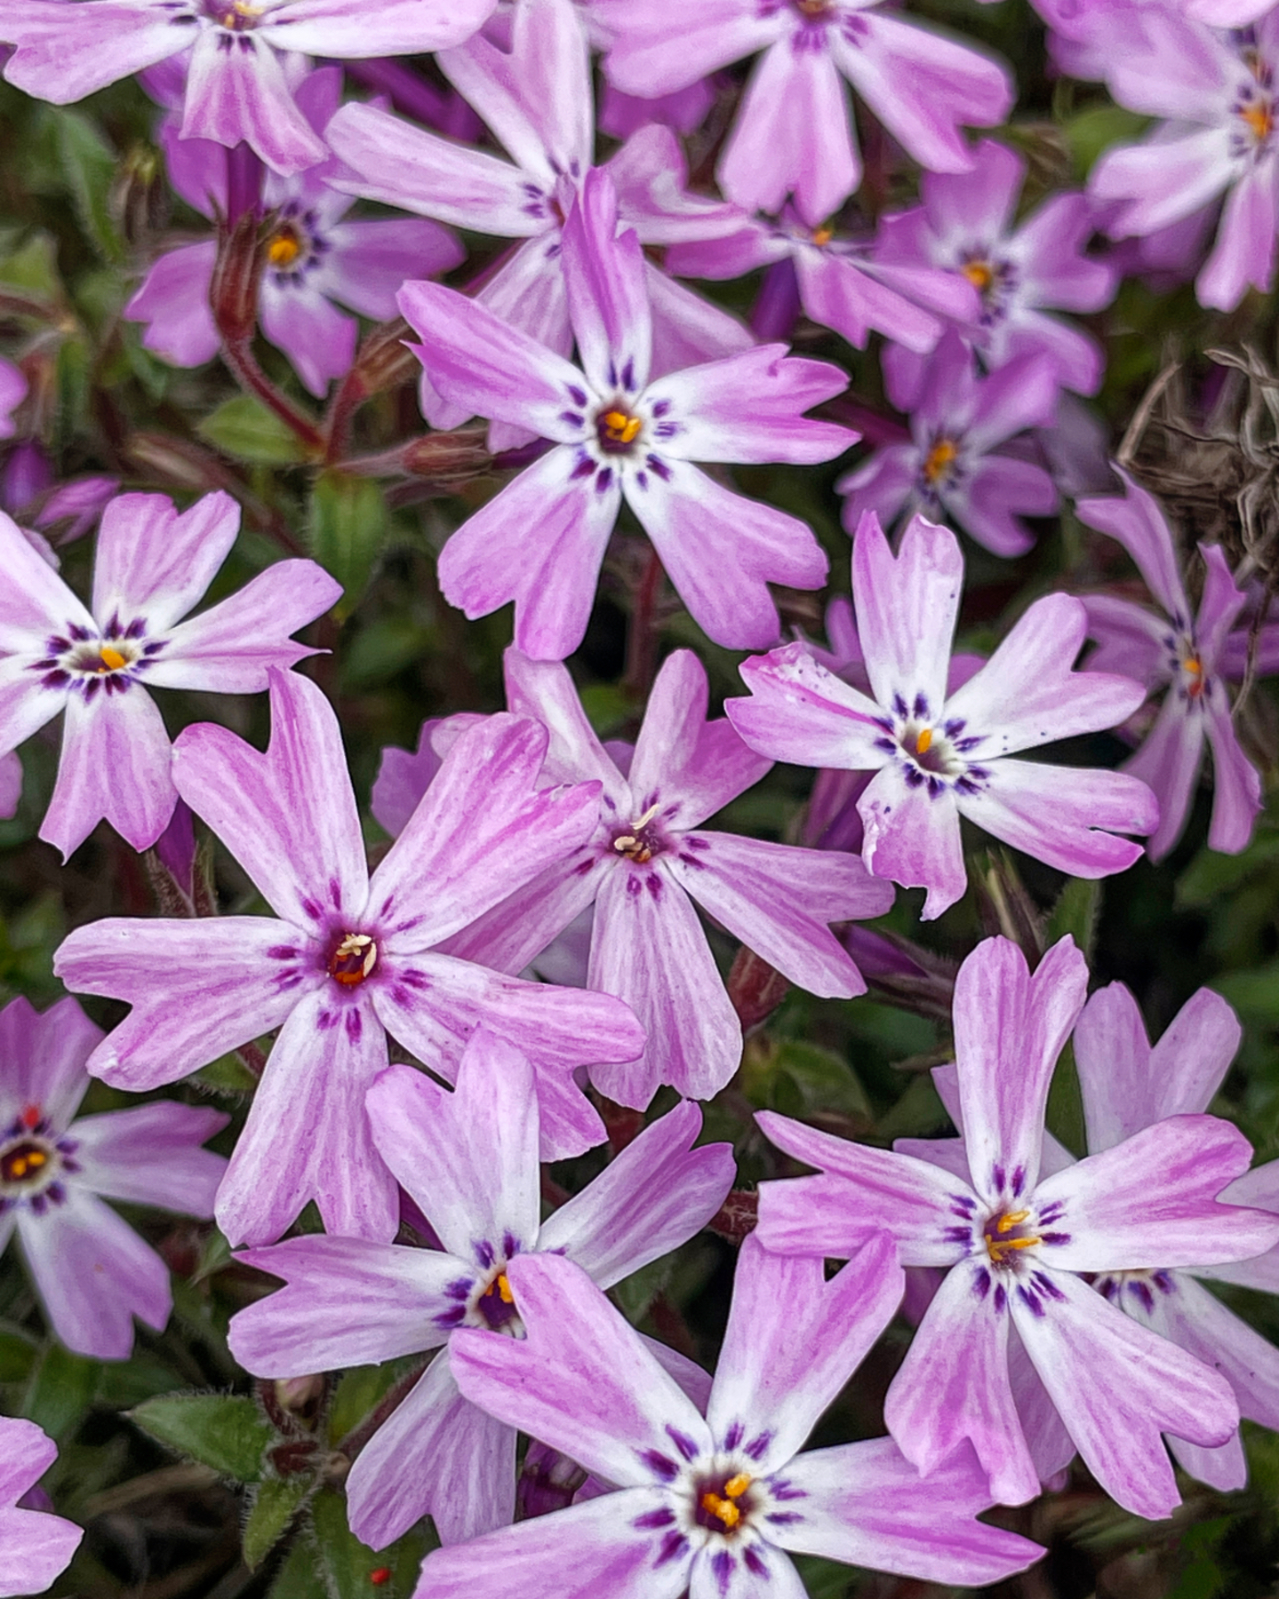
[[744, 662], [751, 699], [725, 705], [772, 760], [874, 771], [858, 801], [861, 859], [876, 876], [927, 887], [925, 921], [964, 894], [960, 815], [1079, 878], [1130, 867], [1141, 846], [1114, 833], [1149, 833], [1159, 819], [1135, 777], [1005, 758], [1113, 728], [1141, 704], [1130, 678], [1073, 670], [1087, 628], [1079, 600], [1036, 600], [989, 662], [949, 691], [962, 582], [949, 528], [916, 516], [893, 558], [868, 513], [853, 540], [853, 604], [872, 697], [788, 644]]

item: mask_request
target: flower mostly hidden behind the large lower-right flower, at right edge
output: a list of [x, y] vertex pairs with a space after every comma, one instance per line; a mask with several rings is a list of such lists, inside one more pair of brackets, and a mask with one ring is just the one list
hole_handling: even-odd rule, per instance
[[[1095, 993], [1074, 1031], [1089, 1151], [1111, 1150], [1167, 1116], [1205, 1111], [1229, 1070], [1239, 1035], [1239, 1022], [1226, 1001], [1201, 988], [1151, 1047], [1137, 1001], [1122, 983]], [[1279, 1161], [1244, 1172], [1220, 1198], [1279, 1210]], [[1279, 1350], [1201, 1287], [1199, 1278], [1274, 1294], [1279, 1290], [1279, 1250], [1233, 1265], [1191, 1263], [1180, 1271], [1162, 1265], [1106, 1271], [1093, 1286], [1125, 1314], [1220, 1372], [1234, 1390], [1242, 1415], [1279, 1430]], [[1181, 1438], [1169, 1438], [1169, 1447], [1178, 1465], [1215, 1489], [1228, 1492], [1247, 1481], [1239, 1433], [1217, 1449]]]

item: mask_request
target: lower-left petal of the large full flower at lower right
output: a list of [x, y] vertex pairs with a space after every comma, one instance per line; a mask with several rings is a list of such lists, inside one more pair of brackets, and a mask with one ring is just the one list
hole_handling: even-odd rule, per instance
[[919, 1324], [884, 1401], [903, 1455], [930, 1476], [967, 1439], [1000, 1505], [1039, 1497], [1039, 1473], [1008, 1380], [1008, 1295], [976, 1260], [954, 1266]]

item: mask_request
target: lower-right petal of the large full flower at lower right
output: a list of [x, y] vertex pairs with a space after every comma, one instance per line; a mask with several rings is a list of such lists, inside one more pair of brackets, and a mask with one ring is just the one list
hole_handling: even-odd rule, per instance
[[1101, 1487], [1159, 1521], [1180, 1505], [1161, 1431], [1225, 1444], [1239, 1407], [1225, 1377], [1114, 1310], [1069, 1271], [1037, 1310], [1012, 1295], [1021, 1342]]

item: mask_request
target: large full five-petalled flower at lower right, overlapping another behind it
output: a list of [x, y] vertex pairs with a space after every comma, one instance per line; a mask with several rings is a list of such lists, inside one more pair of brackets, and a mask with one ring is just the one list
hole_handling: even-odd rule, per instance
[[1087, 980], [1071, 939], [1034, 975], [1007, 939], [968, 956], [954, 996], [962, 1142], [906, 1140], [919, 1154], [890, 1153], [760, 1111], [772, 1142], [820, 1175], [760, 1185], [759, 1238], [847, 1257], [884, 1228], [903, 1265], [951, 1268], [884, 1407], [919, 1471], [968, 1439], [997, 1500], [1037, 1497], [1015, 1335], [1101, 1487], [1161, 1517], [1180, 1498], [1159, 1434], [1225, 1444], [1239, 1406], [1223, 1375], [1121, 1314], [1087, 1278], [1247, 1260], [1279, 1238], [1279, 1217], [1217, 1202], [1252, 1150], [1215, 1116], [1169, 1116], [1044, 1175], [1048, 1083]]

